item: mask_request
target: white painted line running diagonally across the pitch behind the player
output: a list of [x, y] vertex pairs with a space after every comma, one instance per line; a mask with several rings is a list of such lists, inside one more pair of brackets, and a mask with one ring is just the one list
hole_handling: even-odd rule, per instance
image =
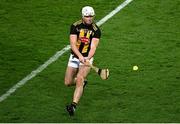
[[[126, 0], [122, 4], [120, 4], [116, 9], [114, 9], [112, 12], [110, 12], [108, 15], [106, 15], [104, 18], [99, 20], [96, 24], [98, 26], [101, 26], [104, 24], [107, 20], [112, 18], [116, 13], [118, 13], [121, 9], [123, 9], [126, 5], [128, 5], [133, 0]], [[29, 75], [27, 75], [25, 78], [20, 80], [17, 84], [15, 84], [13, 87], [11, 87], [5, 94], [3, 94], [0, 97], [0, 102], [7, 99], [8, 96], [10, 96], [12, 93], [14, 93], [18, 88], [22, 87], [24, 84], [26, 84], [29, 80], [34, 78], [37, 74], [39, 74], [41, 71], [43, 71], [47, 66], [49, 66], [51, 63], [58, 60], [60, 56], [62, 56], [65, 52], [70, 50], [70, 45], [67, 45], [62, 50], [57, 51], [52, 57], [50, 57], [44, 64], [40, 65], [36, 70], [32, 71]]]

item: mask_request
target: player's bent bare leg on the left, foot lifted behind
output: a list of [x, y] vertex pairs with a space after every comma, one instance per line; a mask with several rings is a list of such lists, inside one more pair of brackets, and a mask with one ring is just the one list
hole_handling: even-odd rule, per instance
[[69, 66], [67, 67], [65, 78], [64, 78], [64, 84], [66, 86], [75, 85], [77, 71], [78, 71], [77, 68], [73, 68], [73, 67], [69, 67]]

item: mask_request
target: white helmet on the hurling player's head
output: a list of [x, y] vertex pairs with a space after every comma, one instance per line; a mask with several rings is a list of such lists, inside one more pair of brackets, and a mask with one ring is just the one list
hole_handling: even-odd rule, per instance
[[85, 6], [82, 8], [82, 17], [84, 16], [94, 16], [95, 12], [94, 9], [90, 6]]

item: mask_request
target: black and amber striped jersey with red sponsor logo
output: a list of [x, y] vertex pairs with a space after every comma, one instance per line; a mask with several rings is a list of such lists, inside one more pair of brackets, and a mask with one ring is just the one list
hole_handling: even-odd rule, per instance
[[[85, 25], [82, 20], [71, 25], [70, 34], [77, 35], [76, 46], [84, 57], [87, 57], [89, 54], [92, 38], [101, 37], [101, 31], [95, 23]], [[72, 50], [71, 53], [75, 55]], [[77, 56], [75, 55], [75, 57]]]

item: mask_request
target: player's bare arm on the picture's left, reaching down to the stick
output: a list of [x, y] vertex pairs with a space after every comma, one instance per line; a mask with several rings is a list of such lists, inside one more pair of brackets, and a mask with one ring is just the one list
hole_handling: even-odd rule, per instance
[[71, 45], [71, 49], [72, 51], [78, 56], [79, 61], [81, 61], [82, 63], [84, 63], [84, 57], [82, 56], [82, 54], [79, 52], [79, 50], [76, 47], [76, 42], [77, 42], [77, 35], [76, 34], [70, 34], [70, 45]]

